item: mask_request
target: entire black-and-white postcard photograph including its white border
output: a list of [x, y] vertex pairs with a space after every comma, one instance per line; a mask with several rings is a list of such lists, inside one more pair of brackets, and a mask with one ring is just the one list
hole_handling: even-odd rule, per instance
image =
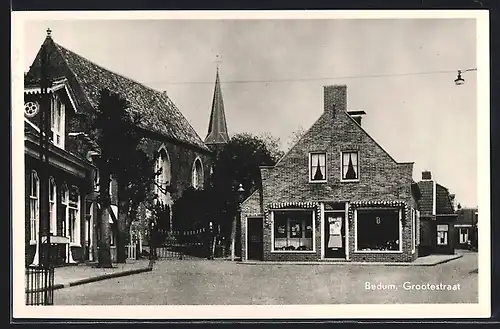
[[488, 44], [484, 11], [14, 13], [14, 315], [488, 317]]

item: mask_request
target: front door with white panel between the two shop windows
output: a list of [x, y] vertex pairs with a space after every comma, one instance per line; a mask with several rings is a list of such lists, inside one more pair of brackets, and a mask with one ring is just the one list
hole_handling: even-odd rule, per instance
[[346, 258], [344, 212], [325, 212], [325, 258]]

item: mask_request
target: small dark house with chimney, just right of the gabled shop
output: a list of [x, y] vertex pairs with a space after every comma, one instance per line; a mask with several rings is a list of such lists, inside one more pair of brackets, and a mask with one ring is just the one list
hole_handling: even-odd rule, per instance
[[421, 255], [454, 254], [454, 223], [457, 214], [453, 194], [432, 179], [430, 171], [422, 172], [418, 182], [420, 200], [420, 248]]

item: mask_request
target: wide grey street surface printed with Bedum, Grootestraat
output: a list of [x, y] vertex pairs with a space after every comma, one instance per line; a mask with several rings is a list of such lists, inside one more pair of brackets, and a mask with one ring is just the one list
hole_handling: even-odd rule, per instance
[[55, 305], [477, 303], [477, 268], [476, 253], [465, 253], [459, 259], [436, 266], [159, 261], [152, 272], [57, 290], [54, 302]]

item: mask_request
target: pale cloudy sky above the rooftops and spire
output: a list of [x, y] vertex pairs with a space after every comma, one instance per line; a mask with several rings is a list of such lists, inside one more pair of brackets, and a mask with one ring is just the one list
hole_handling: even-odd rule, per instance
[[166, 91], [202, 139], [219, 64], [230, 134], [271, 133], [283, 147], [346, 84], [348, 109], [398, 162], [414, 162], [477, 206], [474, 19], [43, 20], [24, 25], [27, 71], [46, 29], [55, 42]]

